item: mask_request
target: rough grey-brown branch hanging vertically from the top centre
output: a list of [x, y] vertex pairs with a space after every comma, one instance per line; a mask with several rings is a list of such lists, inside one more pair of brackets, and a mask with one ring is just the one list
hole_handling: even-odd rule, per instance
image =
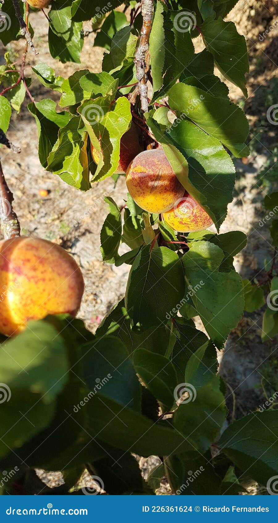
[[134, 103], [133, 100], [136, 99], [137, 94], [140, 94], [141, 110], [142, 112], [148, 112], [147, 73], [149, 69], [149, 38], [152, 27], [153, 0], [142, 0], [141, 13], [143, 25], [139, 47], [136, 50], [134, 59], [138, 89], [135, 89], [134, 93], [131, 94], [129, 101], [130, 103]]

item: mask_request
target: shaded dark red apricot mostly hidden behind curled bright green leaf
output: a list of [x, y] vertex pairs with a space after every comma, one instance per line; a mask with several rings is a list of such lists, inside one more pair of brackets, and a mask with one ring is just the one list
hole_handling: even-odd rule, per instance
[[[117, 170], [115, 171], [116, 174], [126, 174], [127, 167], [129, 166], [131, 160], [137, 154], [139, 154], [142, 151], [142, 147], [139, 144], [139, 136], [137, 132], [137, 126], [134, 122], [131, 122], [130, 129], [123, 134], [122, 138], [120, 139], [120, 147], [119, 147], [119, 162]], [[95, 149], [95, 147], [91, 143], [91, 153], [93, 161], [98, 165], [100, 160], [100, 154], [99, 151]]]

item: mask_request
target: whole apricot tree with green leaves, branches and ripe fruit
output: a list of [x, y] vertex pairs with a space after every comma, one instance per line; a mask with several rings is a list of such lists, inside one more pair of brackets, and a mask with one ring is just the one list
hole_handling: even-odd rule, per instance
[[[102, 72], [88, 63], [68, 78], [40, 62], [29, 4], [1, 4], [0, 38], [11, 42], [0, 66], [3, 169], [5, 147], [19, 152], [9, 140], [11, 111], [27, 97], [45, 170], [81, 191], [126, 173], [125, 202], [103, 202], [100, 238], [104, 263], [128, 264], [130, 272], [125, 297], [90, 333], [74, 318], [79, 268], [54, 244], [19, 237], [1, 167], [0, 471], [16, 472], [0, 491], [92, 493], [73, 488], [87, 469], [109, 494], [153, 494], [164, 476], [173, 494], [238, 494], [250, 480], [272, 493], [277, 411], [250, 413], [224, 430], [233, 391], [217, 373], [216, 349], [266, 296], [264, 335], [278, 331], [275, 254], [262, 285], [241, 281], [233, 259], [246, 235], [219, 234], [233, 199], [232, 157], [248, 156], [248, 122], [224, 81], [247, 96], [245, 38], [223, 20], [236, 0], [97, 4], [53, 0], [43, 10], [53, 58], [80, 62], [88, 20], [95, 46], [105, 49]], [[26, 76], [29, 49], [33, 74], [49, 92], [40, 101]], [[276, 203], [277, 194], [265, 201], [267, 209]], [[216, 229], [206, 229], [211, 224]], [[135, 454], [159, 457], [147, 481]], [[51, 491], [35, 468], [62, 471], [64, 485]]]

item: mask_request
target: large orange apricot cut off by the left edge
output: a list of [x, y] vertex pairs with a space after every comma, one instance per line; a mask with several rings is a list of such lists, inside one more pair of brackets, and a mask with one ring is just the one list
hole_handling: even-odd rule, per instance
[[79, 310], [84, 290], [76, 261], [41, 238], [0, 242], [0, 332], [18, 334], [28, 320]]

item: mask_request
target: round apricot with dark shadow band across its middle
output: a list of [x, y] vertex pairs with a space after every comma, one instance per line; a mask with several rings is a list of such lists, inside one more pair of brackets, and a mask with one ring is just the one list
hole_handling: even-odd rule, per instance
[[134, 201], [148, 212], [165, 212], [184, 195], [162, 149], [143, 151], [129, 164], [126, 185]]

